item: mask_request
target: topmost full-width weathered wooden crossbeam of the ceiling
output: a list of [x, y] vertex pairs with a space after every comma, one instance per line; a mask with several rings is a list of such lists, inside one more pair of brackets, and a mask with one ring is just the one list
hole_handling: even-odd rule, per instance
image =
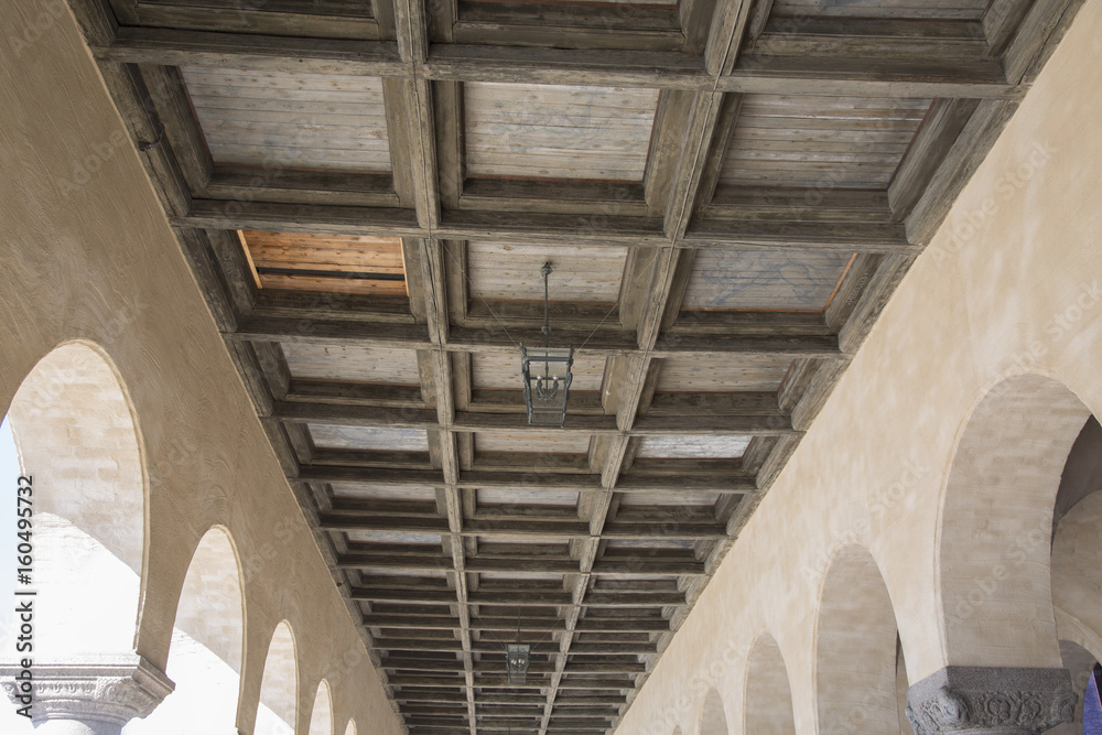
[[[812, 34], [790, 34], [795, 46]], [[801, 37], [801, 36], [807, 37]], [[770, 43], [775, 40], [770, 36]], [[878, 43], [879, 45], [874, 45]], [[770, 46], [771, 48], [771, 46]], [[997, 62], [977, 55], [941, 62], [920, 48], [900, 57], [893, 40], [866, 42], [865, 57], [831, 53], [761, 54], [753, 66], [736, 67], [716, 79], [700, 61], [676, 51], [611, 48], [521, 48], [472, 44], [432, 45], [417, 68], [391, 41], [302, 39], [255, 33], [213, 33], [123, 26], [109, 44], [91, 47], [96, 58], [127, 64], [242, 68], [287, 74], [454, 82], [659, 87], [741, 94], [863, 97], [1014, 98]], [[869, 56], [872, 58], [869, 58]]]

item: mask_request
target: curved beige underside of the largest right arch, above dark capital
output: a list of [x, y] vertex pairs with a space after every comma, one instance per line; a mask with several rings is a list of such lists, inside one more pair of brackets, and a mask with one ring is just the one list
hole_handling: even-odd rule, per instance
[[1052, 508], [1089, 415], [1056, 380], [1019, 375], [988, 391], [966, 420], [937, 552], [947, 663], [1060, 666], [1049, 575]]

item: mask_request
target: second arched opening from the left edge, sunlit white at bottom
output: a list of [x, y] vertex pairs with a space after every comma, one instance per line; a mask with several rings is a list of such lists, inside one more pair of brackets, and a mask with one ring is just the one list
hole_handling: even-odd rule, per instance
[[245, 639], [240, 566], [229, 534], [206, 532], [176, 605], [165, 671], [176, 689], [127, 735], [236, 735]]

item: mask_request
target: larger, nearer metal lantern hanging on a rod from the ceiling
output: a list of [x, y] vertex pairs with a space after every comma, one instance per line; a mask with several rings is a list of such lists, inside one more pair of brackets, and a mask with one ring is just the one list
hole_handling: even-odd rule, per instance
[[566, 421], [570, 382], [574, 379], [573, 347], [552, 347], [548, 323], [548, 277], [551, 263], [540, 269], [543, 275], [543, 346], [520, 346], [520, 375], [525, 379], [525, 406], [528, 423], [538, 426], [562, 426]]

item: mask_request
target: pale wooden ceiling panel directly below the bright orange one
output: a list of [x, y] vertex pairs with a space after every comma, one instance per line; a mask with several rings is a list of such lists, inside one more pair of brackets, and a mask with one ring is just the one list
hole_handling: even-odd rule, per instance
[[309, 342], [282, 344], [294, 378], [415, 386], [420, 382], [417, 352]]

